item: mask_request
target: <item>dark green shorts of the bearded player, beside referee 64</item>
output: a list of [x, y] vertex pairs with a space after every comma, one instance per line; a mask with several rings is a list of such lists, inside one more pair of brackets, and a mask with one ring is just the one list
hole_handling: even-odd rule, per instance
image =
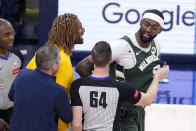
[[128, 102], [123, 102], [122, 107], [126, 108], [126, 111], [121, 116], [121, 131], [144, 131], [144, 108]]

